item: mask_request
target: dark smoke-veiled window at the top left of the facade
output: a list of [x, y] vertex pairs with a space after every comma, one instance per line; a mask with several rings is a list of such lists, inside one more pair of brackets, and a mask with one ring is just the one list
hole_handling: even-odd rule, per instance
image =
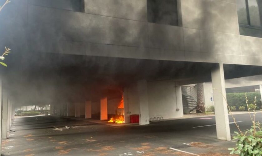
[[82, 0], [30, 0], [30, 4], [43, 7], [54, 7], [71, 11], [82, 11]]

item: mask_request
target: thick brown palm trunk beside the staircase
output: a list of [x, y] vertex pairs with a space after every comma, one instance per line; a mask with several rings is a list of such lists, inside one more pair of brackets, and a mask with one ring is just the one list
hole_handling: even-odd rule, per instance
[[197, 102], [196, 102], [196, 113], [205, 113], [205, 103], [203, 99], [203, 83], [196, 84], [197, 90]]

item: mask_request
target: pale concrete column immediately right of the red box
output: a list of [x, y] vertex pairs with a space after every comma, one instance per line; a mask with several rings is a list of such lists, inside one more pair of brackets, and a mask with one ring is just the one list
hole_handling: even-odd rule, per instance
[[137, 88], [140, 108], [139, 124], [149, 124], [147, 81], [139, 80], [137, 82]]

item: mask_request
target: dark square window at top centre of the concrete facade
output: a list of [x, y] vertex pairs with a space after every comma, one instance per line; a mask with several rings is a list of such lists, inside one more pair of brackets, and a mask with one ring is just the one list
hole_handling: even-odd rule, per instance
[[177, 0], [147, 0], [148, 22], [178, 25]]

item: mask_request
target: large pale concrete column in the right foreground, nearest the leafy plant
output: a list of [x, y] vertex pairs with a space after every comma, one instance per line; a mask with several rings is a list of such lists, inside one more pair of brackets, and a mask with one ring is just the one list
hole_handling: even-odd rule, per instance
[[219, 64], [211, 71], [213, 97], [216, 115], [217, 139], [231, 140], [228, 111], [226, 104], [226, 88], [223, 64]]

